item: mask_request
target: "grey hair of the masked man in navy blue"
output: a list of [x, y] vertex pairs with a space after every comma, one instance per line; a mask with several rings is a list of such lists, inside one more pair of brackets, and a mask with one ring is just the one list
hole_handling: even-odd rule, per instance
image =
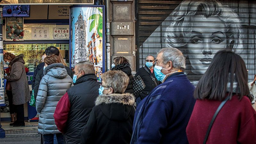
[[162, 60], [166, 64], [168, 61], [172, 61], [172, 67], [180, 70], [186, 69], [185, 57], [180, 50], [170, 47], [163, 48], [157, 54], [163, 53]]

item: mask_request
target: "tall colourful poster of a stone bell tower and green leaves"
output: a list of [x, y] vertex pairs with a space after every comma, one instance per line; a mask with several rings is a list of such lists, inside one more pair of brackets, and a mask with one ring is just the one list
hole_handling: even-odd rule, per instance
[[104, 69], [104, 28], [103, 6], [70, 8], [70, 48], [71, 68], [76, 63], [88, 60], [94, 64], [100, 79]]

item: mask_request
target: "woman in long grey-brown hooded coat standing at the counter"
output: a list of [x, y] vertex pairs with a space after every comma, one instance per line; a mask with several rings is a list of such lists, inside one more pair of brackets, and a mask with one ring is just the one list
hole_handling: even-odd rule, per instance
[[11, 121], [15, 121], [14, 113], [16, 113], [16, 121], [11, 123], [13, 127], [24, 126], [24, 103], [30, 100], [30, 91], [26, 70], [24, 67], [24, 55], [20, 54], [17, 57], [6, 52], [4, 54], [4, 62], [9, 67], [9, 75], [6, 76], [7, 82], [11, 85], [11, 91], [6, 90], [10, 104]]

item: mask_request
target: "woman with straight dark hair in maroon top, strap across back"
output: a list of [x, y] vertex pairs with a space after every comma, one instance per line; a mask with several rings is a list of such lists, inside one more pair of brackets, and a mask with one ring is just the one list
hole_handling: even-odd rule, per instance
[[186, 129], [190, 144], [203, 143], [212, 117], [228, 99], [213, 122], [207, 143], [256, 143], [256, 112], [247, 85], [242, 58], [230, 51], [219, 51], [200, 79], [194, 97], [196, 104]]

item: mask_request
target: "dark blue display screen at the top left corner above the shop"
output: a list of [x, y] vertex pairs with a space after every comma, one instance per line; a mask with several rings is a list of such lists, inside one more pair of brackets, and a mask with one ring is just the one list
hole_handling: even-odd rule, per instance
[[4, 5], [3, 17], [29, 17], [30, 5]]

